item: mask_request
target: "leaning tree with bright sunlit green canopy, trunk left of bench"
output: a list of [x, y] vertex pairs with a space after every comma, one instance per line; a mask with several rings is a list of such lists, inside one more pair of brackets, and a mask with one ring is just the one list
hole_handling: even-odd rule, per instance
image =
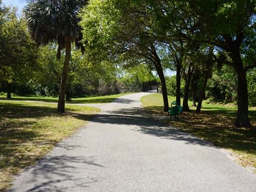
[[[135, 1], [92, 0], [81, 13], [84, 39], [91, 43], [105, 60], [126, 67], [147, 63], [153, 66], [162, 84], [164, 111], [169, 109], [162, 58], [163, 45], [154, 31], [152, 15]], [[95, 48], [97, 47], [97, 48]]]

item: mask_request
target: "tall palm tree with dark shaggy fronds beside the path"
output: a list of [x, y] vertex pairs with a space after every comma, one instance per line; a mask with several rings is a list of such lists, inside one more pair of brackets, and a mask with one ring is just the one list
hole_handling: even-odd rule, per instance
[[71, 57], [71, 43], [84, 52], [81, 42], [82, 32], [78, 26], [79, 10], [87, 4], [88, 0], [35, 0], [25, 7], [24, 13], [28, 23], [31, 38], [37, 45], [46, 45], [51, 42], [58, 43], [57, 57], [65, 49], [65, 61], [62, 69], [58, 112], [65, 112], [65, 94]]

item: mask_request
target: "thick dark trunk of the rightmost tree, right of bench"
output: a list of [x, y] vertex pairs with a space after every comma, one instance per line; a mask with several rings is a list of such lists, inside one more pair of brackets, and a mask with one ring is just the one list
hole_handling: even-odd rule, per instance
[[238, 101], [237, 101], [237, 117], [235, 121], [236, 127], [253, 127], [248, 117], [248, 90], [246, 71], [237, 71], [238, 83]]

